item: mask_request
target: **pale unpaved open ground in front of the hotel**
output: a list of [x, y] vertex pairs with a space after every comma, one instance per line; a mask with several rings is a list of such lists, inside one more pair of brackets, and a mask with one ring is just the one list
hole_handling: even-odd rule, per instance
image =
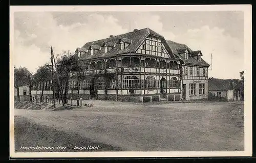
[[[44, 142], [56, 140], [56, 145], [66, 143], [69, 146], [66, 137], [73, 135], [72, 147], [88, 145], [86, 142], [76, 142], [77, 139], [86, 138], [96, 144], [110, 145], [113, 148], [105, 149], [113, 151], [244, 150], [243, 102], [84, 102], [93, 104], [93, 107], [63, 111], [15, 110], [15, 116], [65, 132], [61, 135], [49, 134], [50, 130], [46, 128], [45, 132], [38, 135], [38, 138], [47, 138]], [[20, 126], [19, 123], [15, 120], [16, 127]], [[23, 126], [27, 130], [31, 129], [30, 125]], [[31, 139], [24, 134], [25, 128], [19, 132], [15, 129], [16, 142]], [[38, 132], [42, 129], [31, 130]], [[33, 144], [26, 141], [27, 145], [36, 144], [35, 138]], [[22, 143], [16, 143], [15, 148], [18, 149], [19, 145]]]

